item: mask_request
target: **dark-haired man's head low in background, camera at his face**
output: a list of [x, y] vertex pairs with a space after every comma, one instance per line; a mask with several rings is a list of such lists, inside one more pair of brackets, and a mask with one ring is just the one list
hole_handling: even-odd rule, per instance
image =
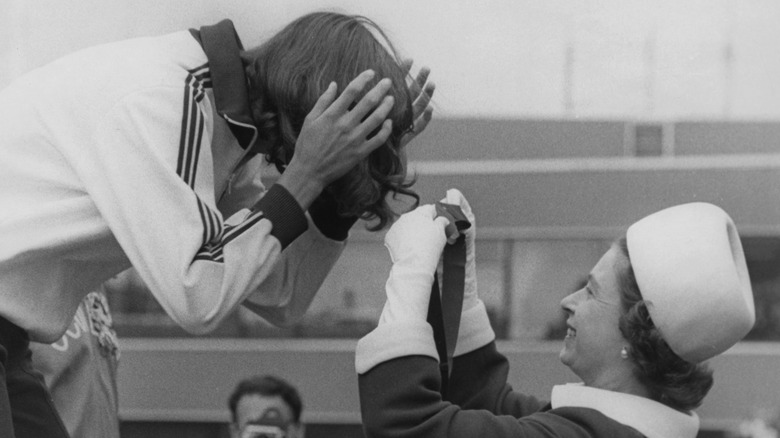
[[255, 376], [236, 385], [228, 399], [231, 438], [303, 438], [303, 403], [298, 390], [274, 376]]

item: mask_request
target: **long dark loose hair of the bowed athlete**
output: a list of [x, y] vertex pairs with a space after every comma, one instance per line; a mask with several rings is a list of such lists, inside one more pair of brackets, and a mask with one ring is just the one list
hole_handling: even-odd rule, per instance
[[[361, 72], [376, 73], [367, 90], [382, 78], [392, 80], [395, 98], [388, 118], [393, 123], [386, 143], [358, 166], [325, 189], [335, 198], [339, 213], [379, 222], [384, 228], [395, 217], [386, 195], [408, 195], [409, 188], [401, 137], [412, 129], [412, 98], [408, 76], [398, 53], [371, 20], [332, 12], [305, 15], [285, 26], [267, 42], [243, 55], [250, 89], [250, 105], [260, 140], [271, 145], [266, 159], [283, 171], [295, 151], [306, 115], [328, 85], [339, 90]], [[377, 130], [378, 131], [378, 130]]]

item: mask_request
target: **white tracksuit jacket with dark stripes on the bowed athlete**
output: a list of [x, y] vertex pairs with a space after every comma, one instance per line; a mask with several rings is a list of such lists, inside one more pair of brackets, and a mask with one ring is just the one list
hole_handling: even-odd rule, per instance
[[354, 220], [258, 185], [239, 49], [225, 20], [82, 50], [0, 91], [0, 316], [53, 342], [130, 265], [194, 333], [242, 302], [276, 324], [305, 312]]

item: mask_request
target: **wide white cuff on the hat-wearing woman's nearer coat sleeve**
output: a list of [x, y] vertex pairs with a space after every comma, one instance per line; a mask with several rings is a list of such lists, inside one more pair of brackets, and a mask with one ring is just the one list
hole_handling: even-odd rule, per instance
[[439, 361], [430, 324], [399, 321], [378, 326], [358, 341], [355, 369], [363, 374], [382, 362], [404, 356], [428, 356]]

